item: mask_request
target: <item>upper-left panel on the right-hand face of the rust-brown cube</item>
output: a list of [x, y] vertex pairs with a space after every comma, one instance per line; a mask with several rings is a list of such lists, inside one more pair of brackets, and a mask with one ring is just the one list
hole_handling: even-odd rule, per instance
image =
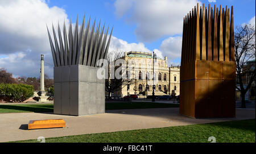
[[209, 79], [209, 61], [196, 60], [195, 72], [196, 79]]

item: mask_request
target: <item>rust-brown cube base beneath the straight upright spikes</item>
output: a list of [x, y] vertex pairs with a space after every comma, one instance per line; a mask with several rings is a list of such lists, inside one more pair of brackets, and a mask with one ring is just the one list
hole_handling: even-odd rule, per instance
[[180, 114], [193, 118], [236, 116], [236, 63], [196, 60], [181, 65]]

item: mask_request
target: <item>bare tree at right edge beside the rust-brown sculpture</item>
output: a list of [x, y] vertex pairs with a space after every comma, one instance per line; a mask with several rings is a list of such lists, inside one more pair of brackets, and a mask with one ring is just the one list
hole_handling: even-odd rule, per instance
[[[255, 27], [250, 24], [245, 24], [236, 27], [234, 34], [234, 49], [236, 58], [236, 88], [240, 90], [242, 99], [242, 108], [245, 108], [245, 94], [250, 89], [251, 84], [255, 81], [255, 63], [254, 67], [246, 66], [250, 60], [255, 60]], [[252, 70], [253, 69], [253, 70]], [[244, 87], [245, 80], [243, 78], [247, 76], [249, 82]]]

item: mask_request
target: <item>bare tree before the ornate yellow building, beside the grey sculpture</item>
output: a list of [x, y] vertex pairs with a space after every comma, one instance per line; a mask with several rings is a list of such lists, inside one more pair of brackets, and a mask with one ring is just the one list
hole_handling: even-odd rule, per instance
[[[112, 63], [110, 62], [115, 62], [119, 58], [123, 56], [123, 52], [110, 52], [107, 60], [108, 60], [108, 78], [105, 80], [105, 90], [108, 92], [108, 98], [110, 98], [110, 94], [113, 93], [114, 91], [119, 91], [123, 89], [126, 85], [132, 84], [133, 80], [127, 79], [127, 78], [110, 78], [110, 65]], [[113, 66], [114, 71], [119, 68], [119, 66]], [[126, 74], [126, 72], [121, 72], [123, 74]]]

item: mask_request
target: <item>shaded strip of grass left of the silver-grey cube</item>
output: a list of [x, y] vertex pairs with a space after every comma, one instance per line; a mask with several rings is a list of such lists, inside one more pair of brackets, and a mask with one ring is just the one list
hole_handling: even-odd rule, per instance
[[42, 113], [42, 112], [53, 112], [53, 105], [0, 105], [0, 113], [1, 109], [4, 109], [2, 113], [17, 113], [22, 111], [34, 112], [34, 113]]

